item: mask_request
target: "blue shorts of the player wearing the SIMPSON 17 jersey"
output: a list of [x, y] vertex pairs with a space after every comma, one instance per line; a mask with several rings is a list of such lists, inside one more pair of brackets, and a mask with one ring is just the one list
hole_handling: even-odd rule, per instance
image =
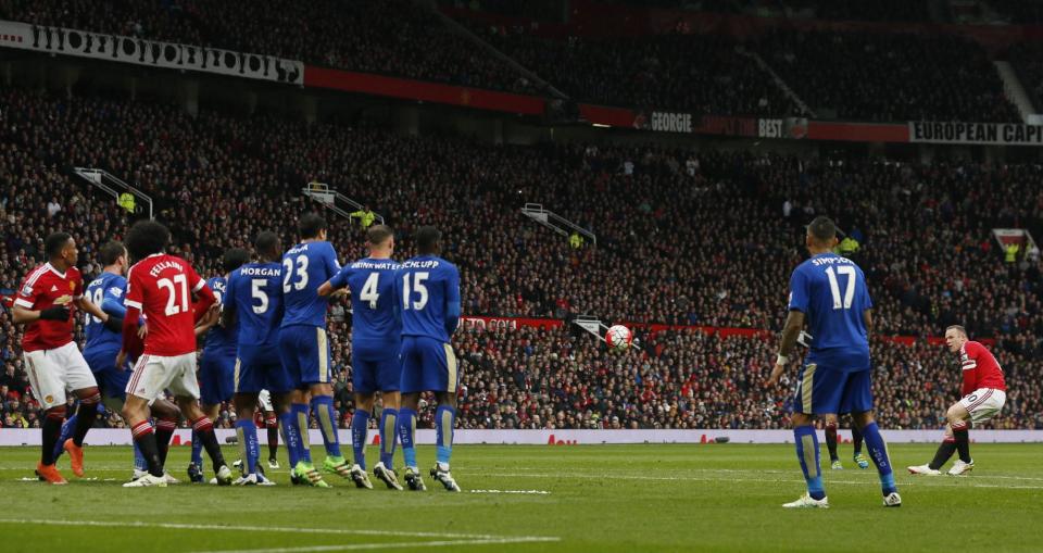
[[840, 415], [872, 411], [871, 369], [845, 372], [808, 363], [801, 367], [792, 411]]

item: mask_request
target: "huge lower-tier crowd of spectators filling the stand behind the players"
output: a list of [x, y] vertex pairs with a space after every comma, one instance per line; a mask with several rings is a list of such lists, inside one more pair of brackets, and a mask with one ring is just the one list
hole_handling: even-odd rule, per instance
[[[43, 261], [48, 232], [74, 235], [89, 278], [100, 269], [97, 247], [127, 227], [131, 215], [70, 176], [72, 165], [105, 168], [151, 193], [158, 217], [174, 231], [172, 250], [203, 275], [217, 274], [223, 250], [248, 246], [259, 230], [274, 229], [284, 244], [293, 243], [292, 214], [316, 206], [300, 189], [328, 183], [387, 218], [399, 232], [399, 257], [409, 256], [415, 226], [440, 227], [444, 255], [461, 268], [467, 315], [589, 313], [616, 322], [778, 329], [789, 273], [803, 255], [802, 225], [829, 214], [860, 243], [851, 255], [865, 269], [880, 334], [922, 337], [964, 323], [972, 336], [996, 337], [1008, 377], [1020, 379], [1013, 389], [1026, 402], [1009, 424], [1035, 425], [1027, 417], [1040, 412], [1032, 407], [1039, 387], [1031, 377], [1043, 359], [1039, 259], [1007, 263], [991, 237], [993, 227], [1043, 236], [1036, 165], [494, 146], [273, 115], [203, 111], [192, 117], [148, 102], [0, 88], [3, 293]], [[573, 248], [528, 222], [518, 211], [528, 201], [592, 229], [598, 243]], [[364, 255], [357, 223], [332, 221], [330, 240], [342, 261]], [[344, 423], [350, 319], [337, 305], [331, 318]], [[4, 415], [12, 414], [12, 425], [32, 426], [20, 336], [10, 315], [0, 314]], [[580, 427], [595, 415], [608, 426], [619, 417], [626, 427], [782, 424], [781, 395], [768, 399], [758, 387], [770, 341], [667, 332], [645, 343], [616, 357], [567, 330], [465, 330], [455, 344], [465, 363], [462, 424]], [[878, 359], [888, 360], [878, 363], [879, 394], [894, 399], [881, 404], [905, 405], [885, 420], [931, 426], [929, 416], [955, 393], [955, 385], [942, 384], [947, 354], [878, 348], [884, 348]], [[576, 401], [582, 410], [568, 409]]]

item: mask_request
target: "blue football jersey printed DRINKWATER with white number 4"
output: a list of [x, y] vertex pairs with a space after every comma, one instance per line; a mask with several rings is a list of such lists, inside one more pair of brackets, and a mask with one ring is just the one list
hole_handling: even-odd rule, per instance
[[402, 325], [394, 313], [394, 275], [399, 267], [394, 260], [366, 257], [344, 266], [330, 280], [334, 288], [347, 286], [351, 290], [352, 343], [390, 349], [399, 342]]

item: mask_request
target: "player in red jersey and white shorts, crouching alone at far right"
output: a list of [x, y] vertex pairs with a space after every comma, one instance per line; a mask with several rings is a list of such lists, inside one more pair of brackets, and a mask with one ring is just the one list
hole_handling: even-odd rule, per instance
[[954, 451], [959, 452], [959, 458], [953, 463], [948, 474], [962, 476], [969, 473], [975, 468], [975, 462], [970, 458], [970, 423], [984, 423], [998, 415], [1007, 401], [1003, 369], [984, 345], [969, 340], [967, 330], [959, 325], [945, 329], [945, 344], [948, 351], [959, 354], [964, 397], [945, 413], [945, 439], [939, 445], [934, 460], [926, 465], [909, 467], [909, 473], [915, 475], [942, 474], [939, 469], [948, 462]]

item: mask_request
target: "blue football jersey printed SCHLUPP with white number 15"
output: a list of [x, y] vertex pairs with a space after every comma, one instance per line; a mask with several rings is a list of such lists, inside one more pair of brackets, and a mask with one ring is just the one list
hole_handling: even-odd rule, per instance
[[456, 265], [420, 255], [402, 263], [394, 279], [402, 313], [402, 336], [427, 336], [449, 343], [460, 321], [460, 272]]

